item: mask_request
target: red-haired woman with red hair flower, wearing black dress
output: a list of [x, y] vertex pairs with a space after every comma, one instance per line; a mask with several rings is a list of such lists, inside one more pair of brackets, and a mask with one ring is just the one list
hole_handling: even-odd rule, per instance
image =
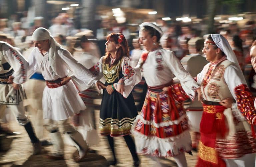
[[129, 59], [128, 44], [123, 34], [111, 33], [107, 36], [106, 55], [90, 71], [106, 79], [100, 107], [99, 130], [106, 135], [117, 163], [113, 137], [123, 136], [132, 154], [134, 166], [139, 166], [135, 144], [129, 135], [135, 117], [138, 115], [131, 91], [135, 85], [135, 74]]

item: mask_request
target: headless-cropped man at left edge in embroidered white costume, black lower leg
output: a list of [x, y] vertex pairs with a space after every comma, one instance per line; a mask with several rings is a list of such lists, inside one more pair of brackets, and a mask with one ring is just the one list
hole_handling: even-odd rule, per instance
[[[3, 40], [0, 38], [0, 40]], [[19, 84], [27, 80], [28, 62], [20, 52], [10, 44], [0, 41], [0, 119], [5, 113], [6, 106], [16, 116], [19, 124], [24, 126], [33, 144], [33, 154], [41, 152], [41, 144], [36, 137], [32, 124], [25, 115], [23, 94]]]

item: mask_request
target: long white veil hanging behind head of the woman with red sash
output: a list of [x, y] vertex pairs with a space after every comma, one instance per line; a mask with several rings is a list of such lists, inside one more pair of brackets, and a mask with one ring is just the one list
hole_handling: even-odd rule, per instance
[[244, 83], [246, 83], [243, 72], [236, 58], [236, 55], [232, 50], [231, 46], [229, 45], [228, 40], [220, 34], [211, 34], [211, 37], [213, 39], [213, 42], [217, 45], [217, 47], [220, 48], [220, 50], [227, 56], [227, 59], [235, 63], [237, 69], [239, 70], [238, 75], [240, 76], [240, 79], [243, 80]]

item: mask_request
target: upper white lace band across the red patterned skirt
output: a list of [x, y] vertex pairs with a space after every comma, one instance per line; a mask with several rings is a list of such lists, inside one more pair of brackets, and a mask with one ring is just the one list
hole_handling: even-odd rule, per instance
[[188, 119], [188, 116], [186, 114], [183, 114], [179, 119], [173, 120], [173, 121], [168, 121], [168, 122], [161, 122], [161, 123], [156, 123], [154, 120], [148, 121], [145, 120], [142, 115], [137, 115], [135, 121], [138, 122], [139, 120], [142, 121], [143, 124], [145, 125], [154, 125], [156, 128], [159, 127], [164, 127], [164, 126], [170, 126], [170, 125], [178, 125], [181, 121], [184, 119]]

